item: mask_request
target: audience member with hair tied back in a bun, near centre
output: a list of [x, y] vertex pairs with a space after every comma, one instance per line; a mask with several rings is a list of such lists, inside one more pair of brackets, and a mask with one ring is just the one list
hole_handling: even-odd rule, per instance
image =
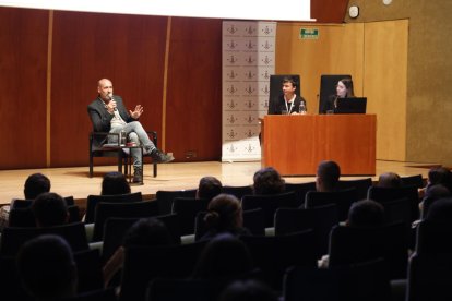
[[218, 233], [228, 232], [233, 236], [251, 234], [243, 228], [243, 212], [240, 201], [230, 194], [219, 194], [215, 196], [207, 207], [204, 221], [207, 232], [201, 240], [212, 239]]

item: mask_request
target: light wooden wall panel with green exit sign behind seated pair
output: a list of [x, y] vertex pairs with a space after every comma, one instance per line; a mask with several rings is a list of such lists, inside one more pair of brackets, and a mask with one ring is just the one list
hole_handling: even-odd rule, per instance
[[[300, 28], [319, 29], [318, 39], [299, 39]], [[352, 74], [355, 94], [362, 96], [364, 25], [278, 23], [276, 73], [300, 74], [308, 111], [319, 111], [320, 75]]]

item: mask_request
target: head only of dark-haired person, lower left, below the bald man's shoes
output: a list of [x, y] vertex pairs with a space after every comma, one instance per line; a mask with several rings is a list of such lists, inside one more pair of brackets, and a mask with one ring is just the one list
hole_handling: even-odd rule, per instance
[[141, 218], [126, 232], [123, 246], [154, 246], [173, 244], [168, 228], [160, 220]]

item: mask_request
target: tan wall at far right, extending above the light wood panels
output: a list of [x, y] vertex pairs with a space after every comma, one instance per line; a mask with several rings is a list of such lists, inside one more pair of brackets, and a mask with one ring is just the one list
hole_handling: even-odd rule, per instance
[[452, 1], [397, 0], [384, 5], [381, 0], [354, 0], [349, 4], [359, 7], [359, 16], [346, 22], [409, 20], [406, 160], [452, 166]]

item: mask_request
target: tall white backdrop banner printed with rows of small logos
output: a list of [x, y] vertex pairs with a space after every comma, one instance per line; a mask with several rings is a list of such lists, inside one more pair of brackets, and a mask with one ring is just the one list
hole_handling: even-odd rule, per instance
[[223, 161], [261, 159], [259, 118], [269, 109], [276, 22], [223, 22]]

